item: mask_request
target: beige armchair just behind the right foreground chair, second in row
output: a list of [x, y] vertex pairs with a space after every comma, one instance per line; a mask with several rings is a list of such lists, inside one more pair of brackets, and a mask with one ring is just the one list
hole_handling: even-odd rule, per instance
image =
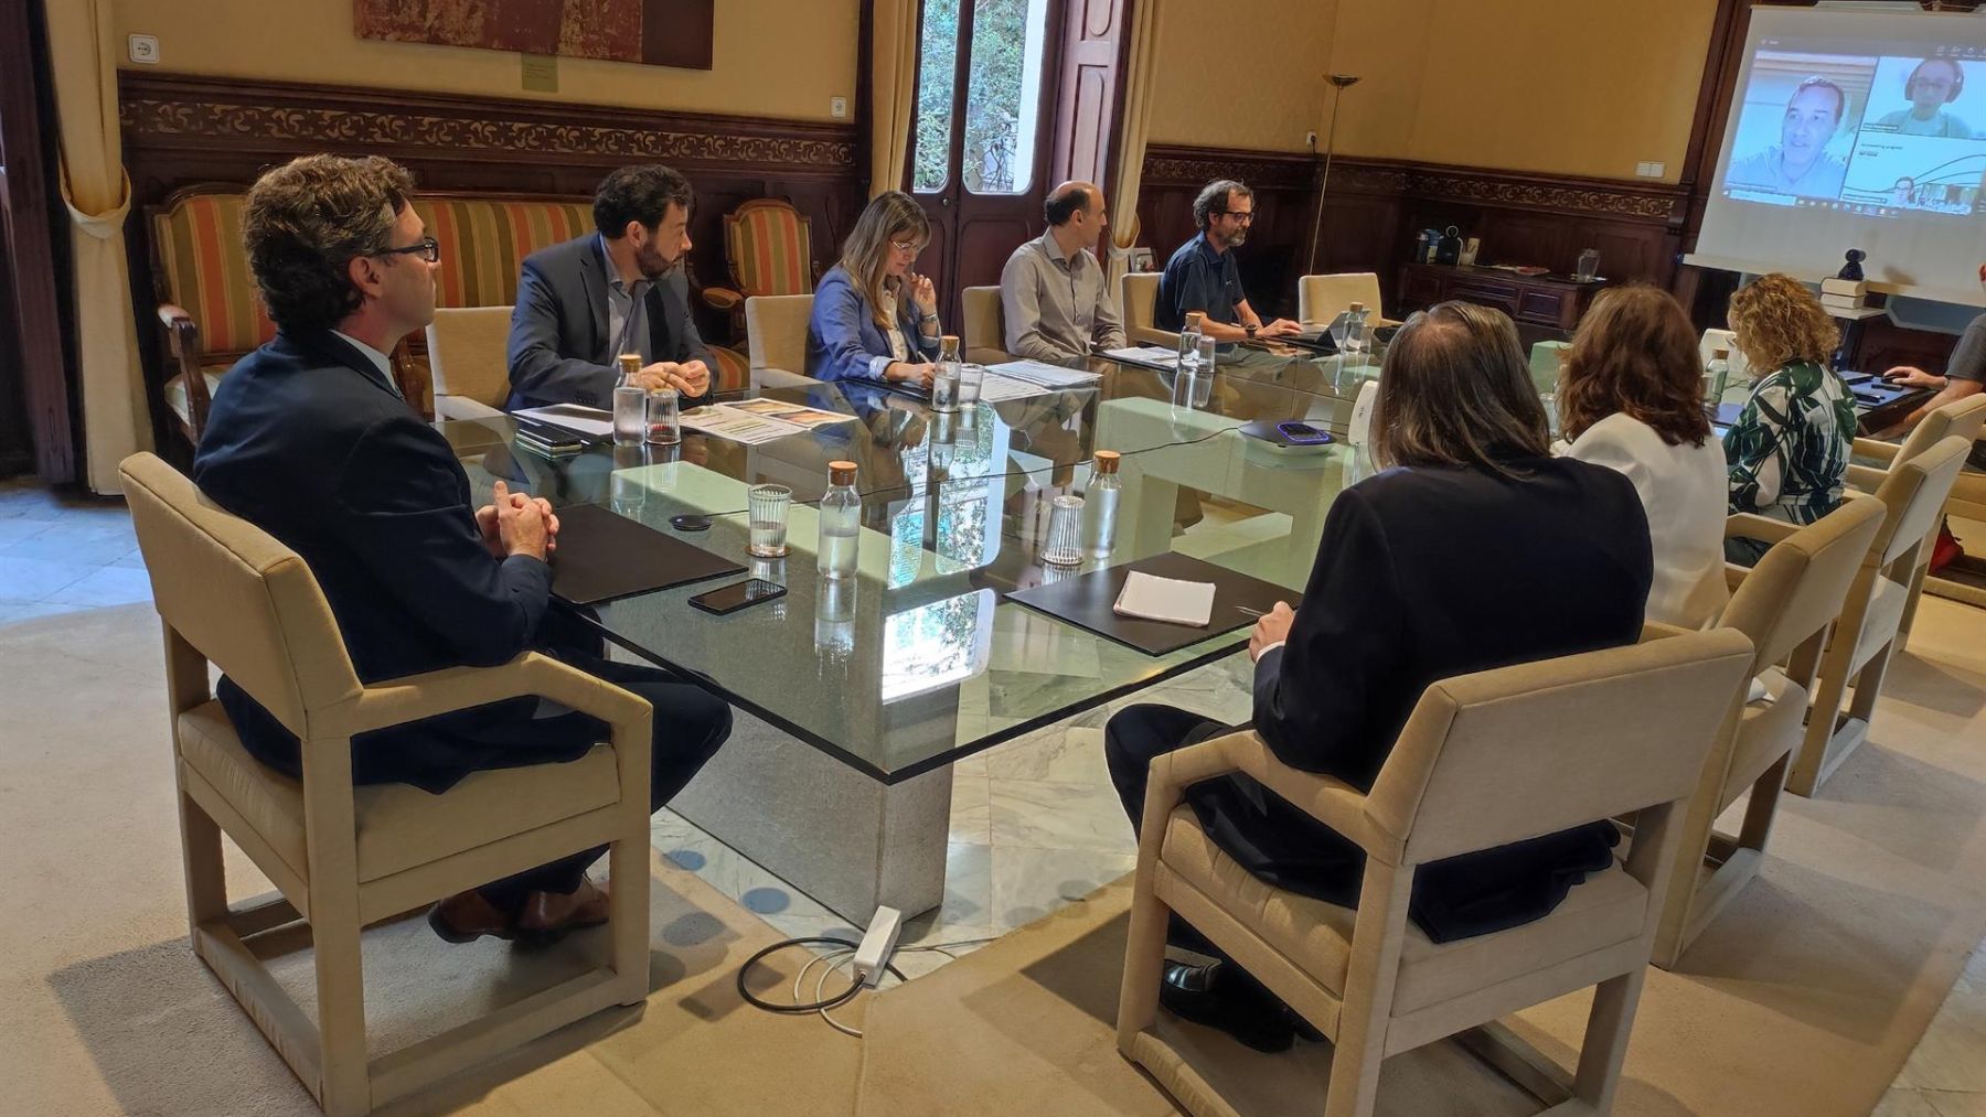
[[[1664, 970], [1758, 875], [1785, 772], [1805, 732], [1801, 720], [1827, 629], [1841, 615], [1841, 601], [1885, 512], [1873, 496], [1851, 496], [1775, 544], [1756, 567], [1728, 567], [1736, 591], [1718, 625], [1752, 641], [1752, 675], [1764, 683], [1766, 696], [1746, 702], [1740, 694], [1732, 702], [1682, 811], [1682, 845], [1656, 891], [1662, 923], [1654, 934], [1654, 964]], [[1654, 623], [1648, 629], [1644, 639], [1682, 631]], [[1785, 667], [1775, 667], [1779, 663]], [[1718, 815], [1746, 792], [1750, 800], [1738, 833], [1718, 833]]]

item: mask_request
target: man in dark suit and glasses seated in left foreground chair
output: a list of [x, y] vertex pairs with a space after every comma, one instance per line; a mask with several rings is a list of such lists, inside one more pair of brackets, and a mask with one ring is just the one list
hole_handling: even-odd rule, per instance
[[[193, 480], [310, 565], [365, 683], [447, 667], [491, 667], [546, 651], [655, 706], [655, 807], [731, 732], [705, 690], [598, 659], [598, 637], [550, 607], [546, 558], [558, 518], [496, 482], [471, 504], [469, 478], [387, 375], [387, 353], [435, 311], [439, 246], [409, 204], [413, 181], [385, 159], [312, 155], [248, 190], [242, 240], [276, 339], [214, 393]], [[298, 742], [220, 681], [242, 746], [300, 776]], [[516, 698], [354, 738], [352, 778], [441, 794], [487, 768], [558, 764], [606, 740], [586, 714]], [[592, 849], [435, 905], [451, 942], [483, 934], [548, 940], [606, 921], [586, 879]]]

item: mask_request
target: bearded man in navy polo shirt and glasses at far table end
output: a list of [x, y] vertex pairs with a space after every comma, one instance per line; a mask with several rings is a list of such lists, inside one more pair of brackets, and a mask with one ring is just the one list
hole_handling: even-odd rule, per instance
[[1207, 183], [1194, 198], [1194, 220], [1200, 236], [1166, 260], [1152, 325], [1178, 331], [1188, 313], [1204, 313], [1200, 329], [1215, 341], [1301, 333], [1303, 327], [1287, 317], [1263, 325], [1241, 292], [1241, 272], [1231, 250], [1247, 242], [1247, 230], [1255, 222], [1255, 192], [1233, 179]]

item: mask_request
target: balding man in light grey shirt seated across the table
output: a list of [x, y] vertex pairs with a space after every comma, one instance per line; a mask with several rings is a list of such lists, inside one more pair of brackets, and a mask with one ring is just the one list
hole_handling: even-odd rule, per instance
[[1104, 266], [1092, 256], [1110, 224], [1104, 192], [1094, 183], [1063, 183], [1049, 190], [1043, 216], [1049, 232], [1015, 248], [999, 276], [1007, 351], [1082, 367], [1090, 353], [1126, 343]]

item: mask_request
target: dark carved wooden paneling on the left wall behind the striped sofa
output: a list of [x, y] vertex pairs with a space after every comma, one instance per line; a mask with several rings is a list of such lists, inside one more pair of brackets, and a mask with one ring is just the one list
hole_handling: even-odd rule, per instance
[[[590, 198], [600, 179], [628, 163], [667, 163], [697, 188], [691, 274], [729, 282], [723, 214], [749, 198], [779, 196], [812, 220], [820, 268], [868, 200], [866, 141], [858, 125], [655, 113], [502, 97], [397, 89], [119, 73], [119, 117], [133, 206], [133, 306], [153, 423], [169, 431], [159, 383], [155, 296], [145, 208], [203, 183], [246, 186], [262, 171], [314, 151], [385, 155], [413, 171], [423, 190]], [[713, 341], [727, 325], [699, 308]]]

